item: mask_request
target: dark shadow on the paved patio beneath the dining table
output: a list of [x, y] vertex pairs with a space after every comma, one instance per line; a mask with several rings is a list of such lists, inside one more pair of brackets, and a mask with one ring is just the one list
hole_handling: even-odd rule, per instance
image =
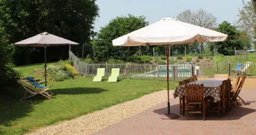
[[[171, 106], [171, 113], [175, 113], [176, 115], [179, 115], [180, 118], [176, 120], [187, 120], [186, 115], [180, 115], [180, 105], [172, 105]], [[167, 108], [159, 108], [154, 110], [153, 112], [162, 115], [167, 112]], [[238, 106], [238, 107], [233, 107], [229, 112], [226, 112], [226, 115], [222, 115], [220, 118], [218, 116], [218, 113], [214, 112], [207, 112], [205, 120], [237, 120], [245, 115], [249, 115], [251, 113], [256, 112], [254, 108], [245, 108], [244, 106]], [[168, 117], [166, 115], [166, 117]], [[190, 120], [202, 120], [202, 114], [190, 114], [189, 116]]]

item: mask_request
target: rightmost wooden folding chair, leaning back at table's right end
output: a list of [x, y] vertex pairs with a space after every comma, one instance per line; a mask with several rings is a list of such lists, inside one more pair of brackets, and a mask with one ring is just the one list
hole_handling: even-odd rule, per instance
[[[240, 91], [242, 90], [242, 88], [244, 86], [245, 79], [246, 79], [246, 76], [243, 76], [240, 83], [236, 87], [236, 89], [233, 89], [233, 92], [231, 93], [231, 101], [233, 102], [233, 105], [235, 105], [235, 106], [245, 104], [244, 99], [240, 98], [240, 96], [239, 96]], [[239, 99], [237, 99], [237, 98], [239, 98]]]

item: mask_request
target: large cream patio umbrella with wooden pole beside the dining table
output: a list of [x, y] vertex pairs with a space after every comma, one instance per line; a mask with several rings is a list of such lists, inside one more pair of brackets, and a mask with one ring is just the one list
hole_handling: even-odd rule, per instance
[[[140, 46], [140, 45], [166, 45], [166, 52], [169, 52], [169, 44], [186, 44], [197, 42], [225, 41], [228, 35], [198, 27], [190, 23], [183, 23], [173, 18], [163, 18], [147, 27], [135, 30], [130, 34], [118, 37], [112, 41], [114, 46]], [[171, 114], [169, 102], [169, 53], [167, 55], [167, 97], [168, 114], [170, 119], [178, 118]]]

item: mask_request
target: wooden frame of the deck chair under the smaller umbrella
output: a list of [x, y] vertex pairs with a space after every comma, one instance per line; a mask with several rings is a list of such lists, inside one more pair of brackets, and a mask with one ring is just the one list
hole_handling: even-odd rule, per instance
[[44, 87], [44, 89], [39, 89], [37, 87], [34, 87], [34, 85], [29, 85], [28, 83], [25, 83], [23, 80], [18, 80], [18, 83], [20, 83], [25, 89], [25, 93], [23, 94], [23, 98], [21, 98], [21, 100], [34, 97], [37, 94], [41, 94], [45, 98], [52, 99], [52, 95], [47, 93], [50, 87]]

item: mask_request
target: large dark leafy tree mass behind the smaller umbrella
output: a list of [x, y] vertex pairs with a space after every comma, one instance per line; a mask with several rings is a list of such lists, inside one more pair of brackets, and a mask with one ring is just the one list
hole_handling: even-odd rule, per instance
[[[84, 44], [94, 36], [98, 5], [95, 0], [0, 0], [0, 14], [4, 16], [0, 26], [5, 28], [9, 44], [44, 31]], [[74, 50], [80, 52], [81, 48], [79, 45]], [[68, 48], [59, 48], [63, 49]], [[42, 48], [37, 50], [43, 51]], [[35, 51], [34, 48], [16, 48], [19, 58], [16, 60], [29, 59]], [[48, 58], [58, 53], [48, 54]]]

